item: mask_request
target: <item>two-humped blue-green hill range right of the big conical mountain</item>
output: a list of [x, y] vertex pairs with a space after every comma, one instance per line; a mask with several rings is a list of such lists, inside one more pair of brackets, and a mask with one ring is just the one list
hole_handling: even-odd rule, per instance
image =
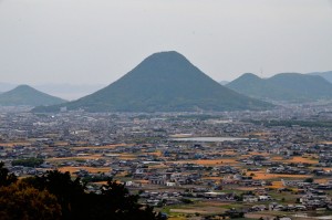
[[269, 78], [245, 73], [226, 86], [261, 99], [308, 102], [332, 98], [331, 83], [321, 76], [300, 73], [280, 73]]

